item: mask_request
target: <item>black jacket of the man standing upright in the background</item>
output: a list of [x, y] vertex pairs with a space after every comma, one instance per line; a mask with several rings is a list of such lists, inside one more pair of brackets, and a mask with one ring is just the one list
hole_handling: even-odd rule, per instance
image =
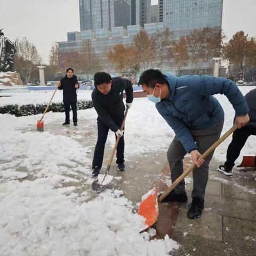
[[77, 77], [73, 75], [73, 77], [68, 78], [68, 76], [66, 75], [65, 77], [62, 77], [60, 79], [60, 83], [61, 85], [58, 89], [63, 90], [63, 102], [77, 102], [75, 87], [75, 85], [78, 84]]

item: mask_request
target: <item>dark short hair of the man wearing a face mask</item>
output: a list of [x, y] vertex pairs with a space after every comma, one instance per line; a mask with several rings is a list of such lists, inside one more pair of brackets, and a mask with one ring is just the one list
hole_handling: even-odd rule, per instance
[[141, 74], [138, 84], [145, 84], [147, 87], [154, 88], [156, 83], [167, 83], [164, 74], [158, 69], [148, 69]]

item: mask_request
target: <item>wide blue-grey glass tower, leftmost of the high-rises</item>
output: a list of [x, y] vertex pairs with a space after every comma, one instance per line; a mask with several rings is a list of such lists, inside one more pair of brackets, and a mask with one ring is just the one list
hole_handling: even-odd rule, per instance
[[131, 25], [131, 0], [79, 0], [81, 31]]

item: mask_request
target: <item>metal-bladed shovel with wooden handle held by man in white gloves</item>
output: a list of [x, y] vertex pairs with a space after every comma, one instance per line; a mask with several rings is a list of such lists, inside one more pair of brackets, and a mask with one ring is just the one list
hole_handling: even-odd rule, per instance
[[[121, 131], [123, 131], [123, 129], [124, 129], [124, 123], [125, 123], [125, 119], [126, 119], [126, 116], [127, 116], [127, 113], [128, 113], [128, 109], [129, 109], [129, 108], [126, 108], [126, 110], [125, 110], [124, 119], [123, 119], [123, 122], [122, 122], [122, 125], [121, 125], [121, 128], [120, 128]], [[100, 193], [100, 192], [103, 191], [105, 188], [107, 188], [108, 185], [109, 185], [109, 183], [111, 182], [111, 180], [108, 181], [108, 180], [106, 179], [106, 177], [107, 177], [107, 175], [108, 175], [108, 173], [109, 173], [110, 166], [111, 166], [111, 163], [112, 163], [112, 161], [113, 161], [113, 158], [114, 158], [114, 155], [115, 155], [115, 152], [116, 152], [116, 148], [117, 148], [119, 139], [120, 139], [120, 135], [118, 135], [118, 137], [117, 137], [117, 139], [116, 139], [115, 147], [114, 147], [113, 150], [112, 150], [111, 157], [110, 157], [110, 159], [109, 159], [109, 161], [108, 161], [108, 165], [107, 165], [107, 168], [106, 168], [106, 171], [105, 171], [105, 175], [104, 175], [104, 177], [103, 177], [103, 180], [102, 180], [102, 181], [99, 181], [99, 179], [96, 179], [96, 180], [94, 180], [94, 181], [92, 182], [92, 187], [91, 187], [91, 189], [92, 189], [92, 191], [93, 191], [94, 193]]]

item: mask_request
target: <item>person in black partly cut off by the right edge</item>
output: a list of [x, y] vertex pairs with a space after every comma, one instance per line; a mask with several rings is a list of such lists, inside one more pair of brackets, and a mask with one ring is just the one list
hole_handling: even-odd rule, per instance
[[227, 150], [227, 161], [224, 165], [220, 165], [218, 169], [225, 175], [232, 175], [232, 168], [246, 140], [250, 135], [256, 135], [256, 89], [247, 93], [245, 99], [250, 109], [250, 122], [242, 129], [238, 129], [233, 133], [233, 139]]

